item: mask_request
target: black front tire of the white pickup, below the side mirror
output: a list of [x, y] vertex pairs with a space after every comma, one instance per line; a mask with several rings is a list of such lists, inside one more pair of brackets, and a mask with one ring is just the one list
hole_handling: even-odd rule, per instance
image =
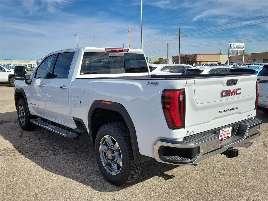
[[[24, 113], [24, 121], [21, 120], [20, 118], [20, 108], [23, 109], [23, 113]], [[27, 109], [26, 107], [26, 102], [24, 98], [21, 98], [18, 102], [17, 105], [17, 115], [18, 115], [18, 119], [19, 119], [19, 125], [21, 126], [21, 128], [25, 131], [29, 131], [35, 128], [35, 124], [32, 124], [30, 119], [32, 119], [32, 115], [30, 114], [30, 111]]]

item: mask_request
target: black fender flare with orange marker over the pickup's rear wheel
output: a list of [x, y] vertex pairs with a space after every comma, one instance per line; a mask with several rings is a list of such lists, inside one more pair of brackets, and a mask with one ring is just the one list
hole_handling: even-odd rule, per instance
[[87, 116], [89, 135], [90, 135], [90, 139], [92, 140], [92, 142], [93, 142], [93, 136], [92, 136], [92, 128], [91, 128], [91, 117], [92, 117], [94, 110], [95, 109], [112, 110], [121, 114], [127, 124], [127, 127], [130, 131], [130, 140], [132, 144], [132, 151], [133, 151], [135, 162], [143, 162], [143, 161], [149, 160], [150, 159], [149, 156], [141, 155], [139, 152], [136, 130], [132, 122], [132, 119], [130, 118], [130, 115], [128, 114], [125, 107], [121, 105], [120, 103], [111, 102], [111, 101], [109, 102], [111, 102], [112, 104], [103, 104], [102, 101], [107, 101], [107, 100], [95, 100], [90, 106], [88, 116]]

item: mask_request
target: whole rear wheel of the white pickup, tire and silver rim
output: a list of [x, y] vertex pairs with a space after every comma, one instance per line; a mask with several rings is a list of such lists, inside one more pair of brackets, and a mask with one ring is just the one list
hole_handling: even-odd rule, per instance
[[121, 186], [133, 182], [141, 174], [143, 164], [135, 163], [130, 133], [125, 123], [103, 125], [95, 141], [96, 160], [103, 176]]

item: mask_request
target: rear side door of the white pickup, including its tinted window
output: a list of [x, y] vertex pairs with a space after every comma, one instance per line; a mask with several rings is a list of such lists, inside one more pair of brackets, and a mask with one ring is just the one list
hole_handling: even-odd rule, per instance
[[51, 78], [46, 79], [45, 107], [55, 120], [71, 124], [69, 112], [70, 67], [75, 52], [58, 54]]

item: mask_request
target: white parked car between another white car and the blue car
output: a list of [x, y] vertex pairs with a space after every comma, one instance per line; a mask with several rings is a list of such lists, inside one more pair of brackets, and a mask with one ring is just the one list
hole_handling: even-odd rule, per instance
[[231, 67], [218, 67], [218, 66], [209, 66], [209, 67], [197, 67], [197, 68], [190, 68], [187, 69], [183, 75], [190, 75], [190, 74], [227, 74], [232, 68]]

